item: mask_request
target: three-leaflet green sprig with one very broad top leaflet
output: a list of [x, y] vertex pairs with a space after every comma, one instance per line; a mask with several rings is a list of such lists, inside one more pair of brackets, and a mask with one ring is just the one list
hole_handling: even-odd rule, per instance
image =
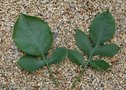
[[53, 42], [53, 35], [48, 23], [34, 16], [20, 14], [14, 25], [13, 39], [16, 46], [25, 53], [17, 61], [17, 64], [28, 72], [47, 66], [50, 76], [58, 85], [50, 65], [61, 62], [67, 56], [67, 49], [56, 48], [47, 58]]

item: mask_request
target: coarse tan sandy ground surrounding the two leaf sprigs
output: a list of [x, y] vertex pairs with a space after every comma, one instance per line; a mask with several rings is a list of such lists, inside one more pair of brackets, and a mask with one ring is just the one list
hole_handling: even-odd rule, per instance
[[117, 24], [111, 42], [121, 50], [106, 58], [112, 64], [110, 70], [97, 72], [88, 68], [75, 90], [126, 90], [126, 0], [0, 0], [0, 90], [68, 90], [81, 70], [67, 58], [61, 65], [52, 65], [60, 87], [53, 84], [47, 67], [31, 74], [21, 70], [16, 61], [22, 52], [12, 40], [13, 25], [20, 13], [49, 23], [55, 37], [53, 49], [61, 46], [77, 49], [74, 29], [87, 31], [96, 13], [107, 9]]

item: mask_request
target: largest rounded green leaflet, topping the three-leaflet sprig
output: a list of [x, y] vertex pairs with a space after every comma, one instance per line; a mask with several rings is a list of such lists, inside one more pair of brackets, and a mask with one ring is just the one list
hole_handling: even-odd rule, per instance
[[14, 26], [13, 39], [23, 52], [42, 56], [41, 53], [48, 53], [53, 37], [45, 21], [21, 14]]

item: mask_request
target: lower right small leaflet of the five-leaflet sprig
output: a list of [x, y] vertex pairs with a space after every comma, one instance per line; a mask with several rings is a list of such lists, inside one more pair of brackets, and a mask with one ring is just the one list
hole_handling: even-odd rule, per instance
[[104, 60], [94, 60], [89, 65], [97, 70], [107, 70], [111, 66]]

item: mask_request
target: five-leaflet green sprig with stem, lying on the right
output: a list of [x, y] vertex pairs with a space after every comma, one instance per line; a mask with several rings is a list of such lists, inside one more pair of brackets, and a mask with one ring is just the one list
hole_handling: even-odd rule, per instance
[[[116, 44], [107, 44], [106, 41], [110, 40], [115, 33], [115, 20], [109, 11], [104, 11], [94, 18], [89, 27], [89, 35], [80, 29], [76, 29], [75, 40], [79, 50], [68, 50], [68, 58], [83, 67], [79, 76], [72, 83], [73, 89], [80, 78], [83, 76], [85, 69], [89, 66], [96, 70], [107, 70], [110, 68], [110, 64], [103, 59], [93, 59], [93, 56], [107, 56], [112, 57], [119, 51], [119, 47]], [[84, 60], [83, 53], [87, 54], [88, 60]]]

